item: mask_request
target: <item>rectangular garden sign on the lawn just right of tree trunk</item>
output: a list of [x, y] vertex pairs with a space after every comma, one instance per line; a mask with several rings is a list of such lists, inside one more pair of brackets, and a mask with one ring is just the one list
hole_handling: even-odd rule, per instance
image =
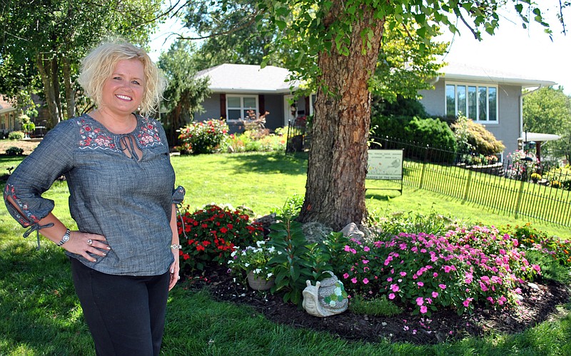
[[403, 150], [369, 150], [368, 153], [367, 179], [403, 179]]

